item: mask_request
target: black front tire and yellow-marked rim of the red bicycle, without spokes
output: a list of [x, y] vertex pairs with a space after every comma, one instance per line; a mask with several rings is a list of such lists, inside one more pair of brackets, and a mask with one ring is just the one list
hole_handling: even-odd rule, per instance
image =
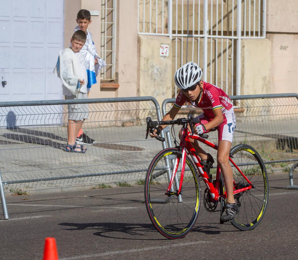
[[193, 228], [197, 218], [198, 218], [198, 214], [200, 211], [200, 204], [201, 204], [201, 187], [200, 187], [200, 182], [199, 182], [199, 178], [198, 178], [198, 173], [197, 173], [197, 169], [196, 166], [194, 165], [194, 163], [192, 162], [192, 160], [190, 160], [190, 158], [187, 156], [187, 161], [190, 163], [190, 165], [193, 168], [192, 174], [195, 180], [195, 184], [196, 184], [196, 194], [197, 194], [197, 205], [194, 209], [194, 213], [193, 213], [193, 217], [191, 218], [190, 223], [188, 224], [187, 228], [181, 230], [181, 232], [176, 232], [176, 234], [173, 233], [169, 233], [167, 232], [167, 230], [161, 226], [161, 224], [158, 222], [158, 220], [156, 219], [156, 217], [154, 216], [154, 212], [152, 210], [152, 207], [150, 207], [150, 181], [151, 181], [151, 172], [153, 172], [153, 169], [155, 167], [155, 165], [157, 164], [157, 162], [162, 158], [162, 155], [169, 153], [169, 152], [175, 152], [178, 153], [179, 150], [177, 148], [166, 148], [163, 149], [162, 151], [160, 151], [159, 153], [157, 153], [155, 155], [155, 157], [152, 159], [147, 173], [146, 173], [146, 178], [145, 178], [145, 204], [146, 204], [146, 209], [148, 212], [148, 216], [150, 218], [150, 221], [152, 222], [153, 226], [156, 228], [156, 230], [162, 234], [164, 237], [166, 238], [170, 238], [170, 239], [178, 239], [178, 238], [182, 238], [185, 235], [187, 235]]

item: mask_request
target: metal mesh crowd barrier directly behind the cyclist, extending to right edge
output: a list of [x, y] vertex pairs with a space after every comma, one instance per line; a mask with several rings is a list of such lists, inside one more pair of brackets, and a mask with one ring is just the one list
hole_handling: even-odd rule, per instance
[[[298, 94], [264, 94], [231, 96], [234, 102], [236, 129], [233, 145], [247, 143], [253, 146], [267, 164], [267, 172], [289, 172], [288, 189], [297, 189], [294, 185], [293, 170], [289, 164], [298, 161]], [[172, 108], [175, 99], [166, 99], [162, 103], [162, 114]], [[201, 114], [200, 109], [184, 105], [176, 117], [185, 117], [188, 113]], [[176, 130], [175, 130], [176, 129]], [[179, 126], [165, 129], [167, 145], [174, 146], [171, 132], [178, 138]], [[209, 140], [217, 142], [217, 131], [209, 132]], [[216, 151], [206, 151], [216, 157]]]

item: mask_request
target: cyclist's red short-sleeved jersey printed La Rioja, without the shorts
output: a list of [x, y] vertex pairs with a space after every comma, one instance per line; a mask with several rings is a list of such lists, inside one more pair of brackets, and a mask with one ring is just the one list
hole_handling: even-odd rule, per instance
[[189, 100], [180, 90], [174, 106], [176, 108], [181, 108], [186, 101], [195, 107], [201, 108], [205, 117], [209, 119], [214, 118], [213, 110], [215, 109], [221, 108], [223, 114], [230, 114], [233, 111], [233, 104], [228, 95], [221, 88], [204, 81], [203, 94], [198, 103]]

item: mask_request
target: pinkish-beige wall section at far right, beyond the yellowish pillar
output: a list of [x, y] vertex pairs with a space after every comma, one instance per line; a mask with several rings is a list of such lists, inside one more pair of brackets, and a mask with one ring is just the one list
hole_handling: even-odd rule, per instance
[[267, 1], [267, 38], [271, 43], [270, 93], [297, 93], [298, 5]]

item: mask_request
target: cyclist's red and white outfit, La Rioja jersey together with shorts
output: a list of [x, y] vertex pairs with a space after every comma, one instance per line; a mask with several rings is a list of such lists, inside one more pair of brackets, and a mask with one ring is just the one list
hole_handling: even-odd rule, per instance
[[217, 127], [218, 140], [228, 140], [232, 143], [236, 126], [234, 108], [231, 99], [221, 88], [203, 81], [203, 93], [198, 102], [189, 100], [183, 92], [180, 91], [174, 106], [176, 108], [181, 108], [185, 102], [189, 102], [194, 107], [198, 107], [203, 110], [204, 113], [197, 117], [200, 118], [202, 124], [210, 122], [215, 117], [213, 110], [220, 108], [223, 113], [224, 120]]

